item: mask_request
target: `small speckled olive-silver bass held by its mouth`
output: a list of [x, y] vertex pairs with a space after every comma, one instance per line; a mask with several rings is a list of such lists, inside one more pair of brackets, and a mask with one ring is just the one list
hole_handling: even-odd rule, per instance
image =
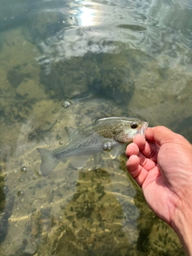
[[46, 177], [58, 162], [70, 158], [76, 169], [82, 169], [92, 154], [109, 152], [112, 159], [118, 155], [118, 147], [132, 142], [136, 134], [145, 135], [148, 122], [137, 118], [110, 117], [100, 118], [82, 129], [65, 127], [69, 137], [66, 145], [55, 150], [37, 148], [41, 155], [40, 170]]

